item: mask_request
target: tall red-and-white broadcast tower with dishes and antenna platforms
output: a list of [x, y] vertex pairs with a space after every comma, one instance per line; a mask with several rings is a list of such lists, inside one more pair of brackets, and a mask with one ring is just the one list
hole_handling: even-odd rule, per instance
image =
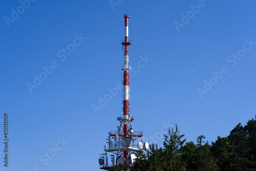
[[[124, 65], [123, 70], [123, 114], [118, 117], [117, 120], [120, 122], [120, 126], [117, 126], [117, 131], [110, 131], [108, 136], [108, 146], [104, 146], [105, 153], [101, 154], [102, 157], [99, 159], [99, 164], [101, 169], [109, 169], [118, 163], [126, 163], [129, 170], [134, 164], [134, 159], [136, 158], [136, 152], [148, 148], [148, 143], [143, 144], [142, 131], [135, 132], [132, 129], [132, 121], [134, 117], [129, 114], [129, 104], [130, 104], [130, 75], [129, 71], [131, 67], [128, 65], [129, 62], [129, 51], [128, 47], [132, 44], [128, 39], [129, 37], [129, 26], [128, 20], [130, 18], [129, 14], [124, 14], [124, 40], [122, 41], [122, 46], [124, 47]], [[135, 140], [140, 138], [140, 141], [135, 144]], [[111, 164], [108, 163], [108, 152], [116, 155], [111, 155]]]

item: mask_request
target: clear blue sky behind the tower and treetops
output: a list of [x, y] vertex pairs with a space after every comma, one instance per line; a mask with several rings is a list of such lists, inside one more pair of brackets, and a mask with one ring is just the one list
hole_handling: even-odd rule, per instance
[[1, 1], [0, 126], [4, 141], [8, 113], [9, 163], [2, 144], [0, 170], [99, 170], [122, 114], [114, 90], [122, 79], [124, 13], [134, 40], [130, 114], [145, 141], [161, 146], [175, 123], [186, 142], [200, 135], [215, 141], [245, 125], [255, 115], [255, 5]]

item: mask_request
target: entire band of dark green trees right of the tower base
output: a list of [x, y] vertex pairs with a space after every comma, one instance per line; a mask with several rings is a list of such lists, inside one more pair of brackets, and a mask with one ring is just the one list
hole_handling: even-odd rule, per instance
[[[255, 115], [256, 119], [256, 115]], [[151, 144], [148, 151], [137, 154], [132, 170], [254, 170], [256, 171], [256, 120], [243, 127], [239, 123], [228, 137], [218, 136], [215, 142], [197, 138], [197, 144], [186, 142], [178, 126], [164, 135], [163, 148]], [[204, 143], [205, 142], [205, 143]], [[185, 143], [185, 144], [184, 144]]]

